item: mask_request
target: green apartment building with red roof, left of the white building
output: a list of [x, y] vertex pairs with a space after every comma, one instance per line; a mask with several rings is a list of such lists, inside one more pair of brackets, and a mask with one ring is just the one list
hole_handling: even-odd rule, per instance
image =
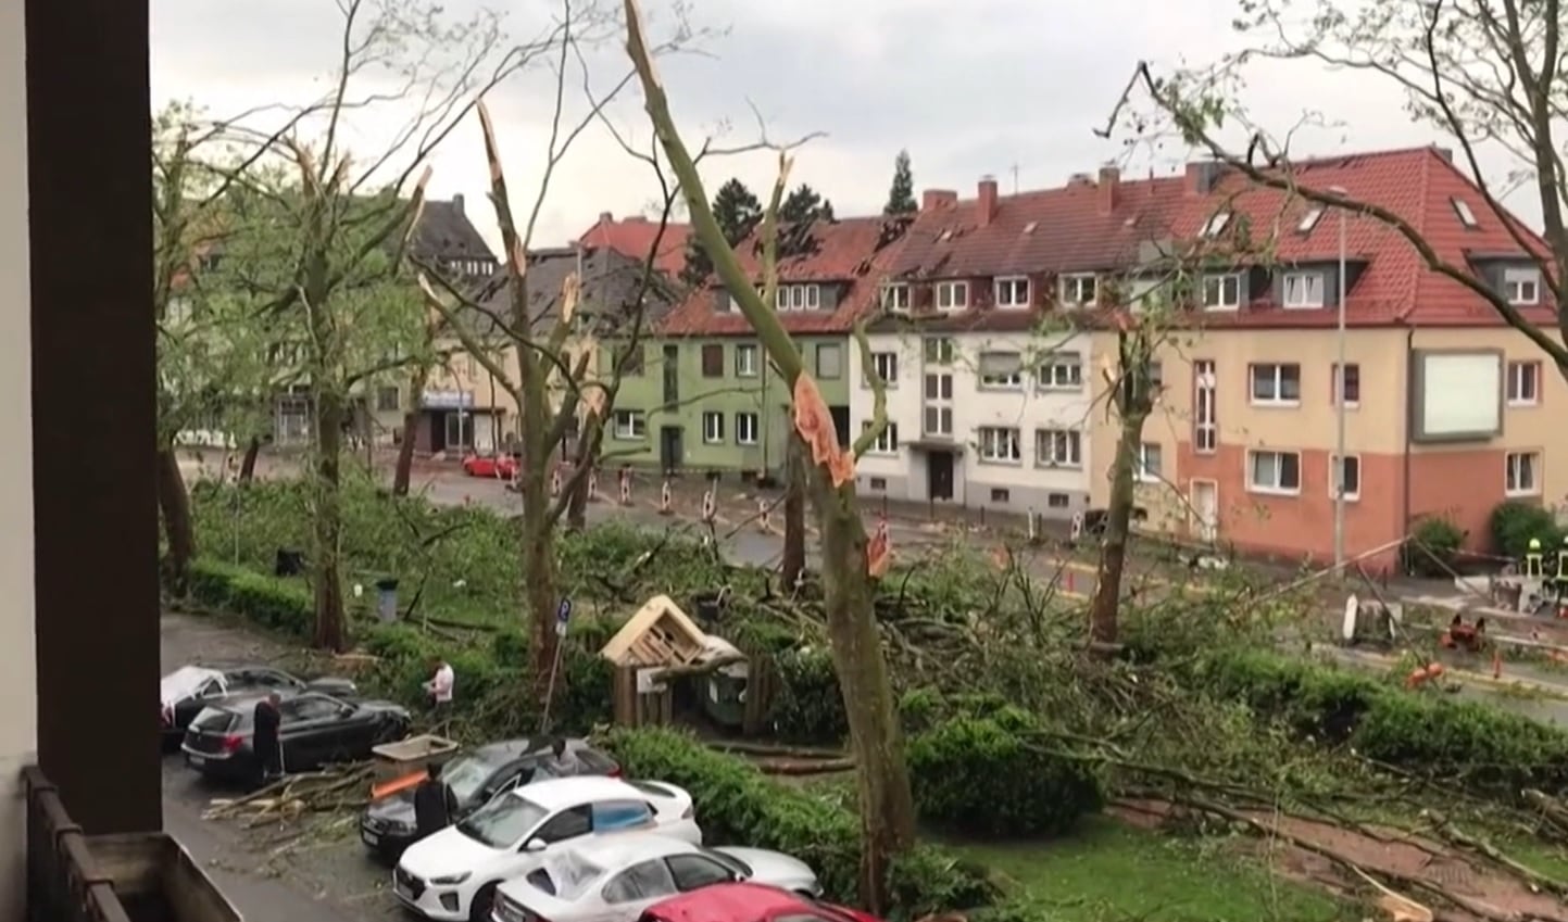
[[[822, 389], [840, 441], [850, 436], [858, 389], [850, 331], [877, 309], [881, 279], [908, 226], [908, 218], [873, 216], [812, 221], [781, 234], [775, 307]], [[760, 289], [757, 235], [735, 252]], [[782, 467], [789, 387], [717, 281], [688, 292], [657, 325], [637, 367], [641, 373], [622, 383], [615, 403], [608, 453], [663, 470]]]

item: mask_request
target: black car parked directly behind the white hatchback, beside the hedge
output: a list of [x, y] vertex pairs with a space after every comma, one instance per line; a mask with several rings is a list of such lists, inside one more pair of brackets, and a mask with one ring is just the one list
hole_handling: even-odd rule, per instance
[[[566, 751], [577, 759], [577, 775], [621, 775], [615, 759], [583, 740], [566, 740]], [[458, 800], [453, 820], [485, 806], [503, 790], [554, 778], [552, 764], [550, 740], [506, 740], [459, 754], [441, 768], [441, 779]], [[414, 833], [414, 789], [370, 801], [359, 817], [359, 839], [387, 859], [395, 859], [412, 845], [419, 839]]]

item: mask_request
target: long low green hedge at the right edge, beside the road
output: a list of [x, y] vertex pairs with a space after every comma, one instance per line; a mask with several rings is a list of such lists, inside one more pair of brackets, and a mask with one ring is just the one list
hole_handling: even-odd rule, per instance
[[1475, 701], [1406, 692], [1377, 676], [1270, 652], [1226, 652], [1200, 666], [1218, 695], [1403, 771], [1516, 800], [1568, 792], [1568, 731]]

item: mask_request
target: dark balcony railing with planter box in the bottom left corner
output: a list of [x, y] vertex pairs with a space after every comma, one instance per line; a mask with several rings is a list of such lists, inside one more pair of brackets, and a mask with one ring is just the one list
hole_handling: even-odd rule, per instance
[[172, 837], [88, 836], [42, 771], [22, 781], [28, 922], [241, 922]]

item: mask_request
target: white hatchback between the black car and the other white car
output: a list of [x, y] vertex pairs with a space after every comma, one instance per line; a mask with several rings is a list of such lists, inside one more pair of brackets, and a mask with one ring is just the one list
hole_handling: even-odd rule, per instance
[[583, 836], [629, 831], [702, 842], [691, 795], [673, 784], [550, 778], [502, 793], [409, 845], [392, 870], [392, 888], [398, 902], [426, 919], [489, 922], [495, 888], [538, 867], [541, 853]]

